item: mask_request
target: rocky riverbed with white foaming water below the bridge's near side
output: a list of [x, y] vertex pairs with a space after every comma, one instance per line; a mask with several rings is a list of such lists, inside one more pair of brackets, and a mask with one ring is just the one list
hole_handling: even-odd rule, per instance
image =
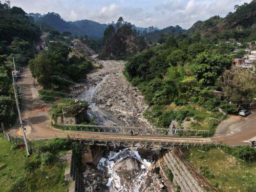
[[156, 166], [159, 149], [123, 148], [110, 151], [96, 166], [83, 165], [86, 191], [166, 191]]

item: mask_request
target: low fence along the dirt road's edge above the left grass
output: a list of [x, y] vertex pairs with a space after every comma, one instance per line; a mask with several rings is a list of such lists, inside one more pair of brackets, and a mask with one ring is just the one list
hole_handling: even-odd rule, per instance
[[[18, 138], [15, 137], [13, 135], [11, 135], [10, 133], [6, 133], [5, 131], [3, 131], [3, 135], [4, 137], [12, 144], [18, 144], [18, 145], [22, 145], [24, 144], [24, 140], [22, 138]], [[24, 148], [24, 147], [23, 147]], [[49, 155], [38, 150], [37, 148], [35, 148], [34, 146], [31, 145], [31, 143], [29, 144], [29, 153], [30, 154], [36, 154], [39, 157], [46, 157], [47, 159], [50, 159]]]

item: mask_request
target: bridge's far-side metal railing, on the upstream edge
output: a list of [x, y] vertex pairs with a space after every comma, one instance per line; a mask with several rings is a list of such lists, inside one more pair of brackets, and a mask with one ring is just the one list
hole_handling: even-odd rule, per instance
[[208, 136], [209, 130], [194, 129], [167, 129], [158, 127], [133, 127], [133, 126], [104, 126], [104, 125], [80, 125], [66, 124], [65, 130], [69, 131], [89, 131], [89, 132], [107, 132], [107, 133], [140, 133], [145, 135], [186, 135], [186, 136]]

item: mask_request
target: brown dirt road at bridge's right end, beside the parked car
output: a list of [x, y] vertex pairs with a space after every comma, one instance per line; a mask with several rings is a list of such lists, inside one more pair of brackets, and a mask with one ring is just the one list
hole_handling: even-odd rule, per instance
[[212, 139], [231, 146], [249, 144], [251, 140], [256, 140], [256, 110], [251, 113], [247, 117], [230, 115], [219, 124]]

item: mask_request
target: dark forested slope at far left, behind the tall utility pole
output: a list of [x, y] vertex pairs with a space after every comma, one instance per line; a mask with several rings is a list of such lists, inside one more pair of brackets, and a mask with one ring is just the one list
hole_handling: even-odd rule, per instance
[[0, 122], [8, 126], [14, 123], [16, 114], [12, 58], [17, 69], [27, 65], [35, 53], [33, 42], [39, 39], [40, 30], [21, 8], [8, 9], [7, 4], [0, 3], [0, 31]]

